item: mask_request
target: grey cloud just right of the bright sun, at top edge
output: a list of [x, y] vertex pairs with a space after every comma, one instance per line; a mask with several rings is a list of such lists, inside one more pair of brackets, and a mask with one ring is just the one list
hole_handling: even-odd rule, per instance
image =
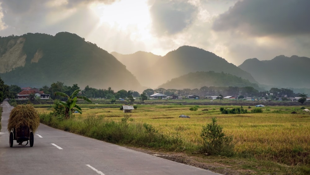
[[171, 35], [192, 24], [197, 8], [187, 1], [155, 1], [150, 9], [157, 35]]

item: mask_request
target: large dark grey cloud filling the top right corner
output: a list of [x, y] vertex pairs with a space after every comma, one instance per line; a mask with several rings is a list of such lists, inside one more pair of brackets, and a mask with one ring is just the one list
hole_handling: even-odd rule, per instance
[[310, 33], [309, 0], [244, 0], [213, 23], [213, 30], [248, 35], [303, 35]]

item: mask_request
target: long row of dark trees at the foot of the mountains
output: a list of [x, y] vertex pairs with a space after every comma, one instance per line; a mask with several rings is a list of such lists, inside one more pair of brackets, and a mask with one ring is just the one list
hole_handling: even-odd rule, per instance
[[[55, 92], [63, 92], [65, 94], [72, 94], [75, 90], [80, 89], [78, 84], [72, 86], [64, 85], [63, 82], [57, 81], [52, 83], [50, 86], [43, 86], [40, 88], [40, 91], [43, 91], [45, 94], [51, 94], [51, 99], [61, 99], [60, 96], [55, 96]], [[17, 85], [4, 85], [4, 82], [0, 79], [0, 100], [5, 98], [16, 98], [17, 94], [21, 92], [21, 88]], [[253, 98], [266, 98], [266, 99], [279, 99], [289, 100], [290, 97], [298, 97], [302, 94], [294, 93], [293, 90], [285, 88], [271, 88], [269, 91], [258, 91], [254, 87], [214, 87], [214, 86], [203, 86], [200, 89], [146, 89], [142, 94], [134, 90], [119, 90], [115, 92], [111, 87], [108, 89], [95, 89], [89, 87], [88, 85], [80, 92], [81, 95], [87, 98], [104, 98], [104, 99], [125, 99], [125, 98], [134, 98], [134, 97], [143, 97], [143, 100], [147, 99], [149, 95], [161, 93], [167, 96], [187, 96], [187, 95], [198, 95], [200, 98], [206, 96], [218, 96], [219, 94], [223, 96], [235, 96], [235, 97], [253, 97]], [[142, 96], [141, 96], [142, 95]], [[146, 97], [145, 97], [146, 96]], [[132, 100], [131, 99], [131, 100]], [[142, 99], [141, 99], [142, 100]], [[134, 100], [133, 100], [134, 101]]]

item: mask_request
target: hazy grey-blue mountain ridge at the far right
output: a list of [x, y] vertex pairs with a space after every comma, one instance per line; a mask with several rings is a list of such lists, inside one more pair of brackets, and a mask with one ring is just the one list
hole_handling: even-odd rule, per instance
[[239, 68], [250, 74], [260, 84], [281, 88], [309, 88], [310, 58], [296, 55], [277, 56], [272, 60], [247, 59]]

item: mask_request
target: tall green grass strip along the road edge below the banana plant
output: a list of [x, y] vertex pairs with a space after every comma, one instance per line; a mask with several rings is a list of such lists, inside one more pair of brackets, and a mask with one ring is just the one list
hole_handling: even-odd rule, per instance
[[180, 151], [184, 146], [180, 137], [166, 136], [152, 125], [135, 122], [128, 116], [124, 116], [121, 121], [95, 116], [61, 120], [51, 114], [41, 114], [40, 120], [43, 124], [54, 128], [114, 144], [152, 147], [167, 151]]

